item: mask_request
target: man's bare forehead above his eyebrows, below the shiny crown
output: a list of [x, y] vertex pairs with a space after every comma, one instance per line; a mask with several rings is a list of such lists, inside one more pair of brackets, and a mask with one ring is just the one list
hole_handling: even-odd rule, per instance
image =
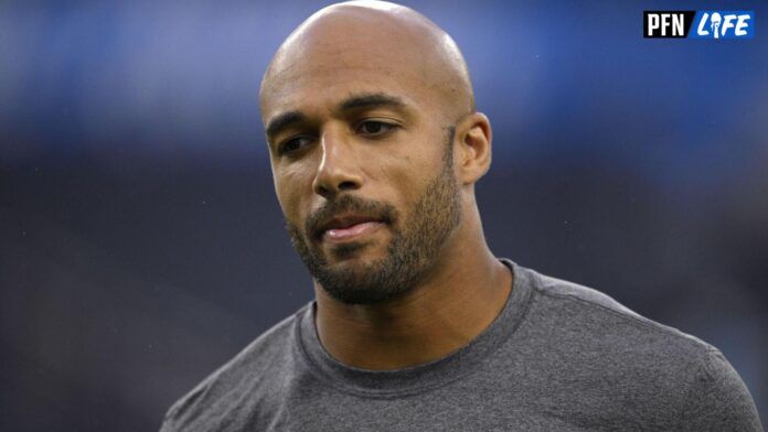
[[285, 110], [335, 106], [352, 94], [387, 94], [426, 109], [435, 104], [435, 74], [424, 55], [397, 37], [303, 37], [279, 52], [262, 87], [266, 120]]

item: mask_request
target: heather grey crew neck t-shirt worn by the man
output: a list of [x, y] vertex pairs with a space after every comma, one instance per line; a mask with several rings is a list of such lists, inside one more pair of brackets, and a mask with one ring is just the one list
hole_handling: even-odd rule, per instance
[[711, 345], [595, 290], [504, 262], [512, 292], [469, 345], [401, 370], [344, 366], [314, 303], [169, 410], [171, 431], [761, 431]]

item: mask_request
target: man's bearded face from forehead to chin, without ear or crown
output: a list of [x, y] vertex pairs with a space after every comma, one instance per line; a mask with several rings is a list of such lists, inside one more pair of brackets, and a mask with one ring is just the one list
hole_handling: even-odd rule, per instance
[[263, 89], [275, 190], [320, 287], [382, 302], [418, 285], [461, 220], [454, 128], [417, 72], [314, 55]]

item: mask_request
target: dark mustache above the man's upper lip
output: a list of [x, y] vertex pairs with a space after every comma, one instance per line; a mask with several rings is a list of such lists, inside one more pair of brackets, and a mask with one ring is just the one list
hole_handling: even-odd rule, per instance
[[338, 199], [326, 202], [320, 208], [312, 212], [305, 223], [305, 233], [319, 239], [322, 236], [320, 226], [323, 223], [350, 213], [372, 217], [386, 224], [395, 224], [399, 216], [395, 206], [390, 203], [343, 195]]

